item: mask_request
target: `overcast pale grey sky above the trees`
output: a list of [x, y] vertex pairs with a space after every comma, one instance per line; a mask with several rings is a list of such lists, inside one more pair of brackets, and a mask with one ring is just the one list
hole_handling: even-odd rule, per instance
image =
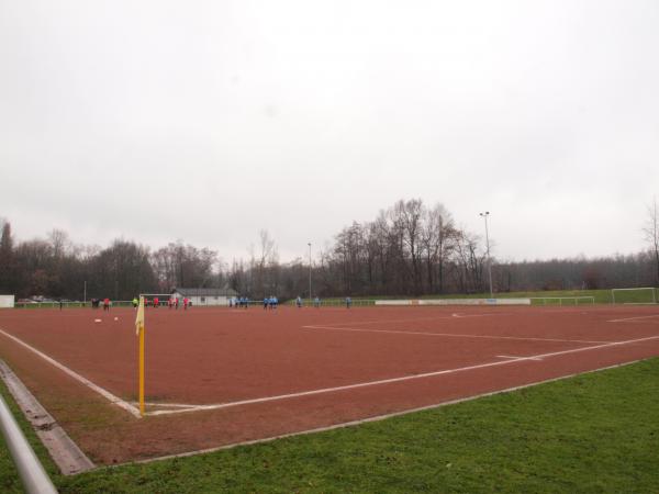
[[489, 210], [501, 259], [636, 252], [658, 26], [657, 0], [0, 0], [0, 216], [225, 260], [266, 228], [287, 261], [421, 198]]

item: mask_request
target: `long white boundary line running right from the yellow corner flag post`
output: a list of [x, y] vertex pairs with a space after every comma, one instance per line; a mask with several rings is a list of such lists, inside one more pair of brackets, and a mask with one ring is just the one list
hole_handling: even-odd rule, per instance
[[333, 393], [333, 392], [337, 392], [337, 391], [354, 390], [357, 388], [375, 386], [375, 385], [379, 385], [379, 384], [391, 384], [394, 382], [411, 381], [411, 380], [424, 379], [424, 378], [433, 378], [436, 375], [453, 374], [456, 372], [465, 372], [465, 371], [470, 371], [470, 370], [476, 370], [476, 369], [485, 369], [488, 367], [506, 366], [509, 363], [515, 363], [515, 362], [521, 362], [521, 361], [526, 361], [526, 360], [538, 360], [538, 359], [544, 359], [546, 357], [556, 357], [559, 355], [577, 353], [579, 351], [596, 350], [599, 348], [629, 345], [629, 344], [635, 344], [635, 343], [640, 343], [640, 341], [648, 341], [651, 339], [659, 339], [659, 336], [650, 336], [648, 338], [638, 338], [638, 339], [628, 339], [625, 341], [612, 341], [612, 343], [607, 343], [604, 345], [595, 345], [592, 347], [582, 347], [582, 348], [573, 348], [571, 350], [561, 350], [561, 351], [551, 351], [549, 353], [539, 353], [539, 355], [534, 355], [534, 356], [529, 356], [529, 357], [518, 358], [515, 360], [498, 360], [496, 362], [479, 363], [476, 366], [460, 367], [457, 369], [446, 369], [446, 370], [434, 371], [434, 372], [424, 372], [421, 374], [403, 375], [402, 378], [391, 378], [391, 379], [382, 379], [379, 381], [360, 382], [357, 384], [348, 384], [345, 386], [324, 388], [321, 390], [280, 394], [277, 396], [265, 396], [265, 397], [260, 397], [260, 398], [243, 400], [239, 402], [216, 403], [216, 404], [212, 404], [212, 405], [199, 405], [194, 408], [188, 408], [188, 409], [163, 409], [163, 411], [157, 411], [157, 412], [149, 412], [147, 415], [183, 414], [183, 413], [189, 413], [189, 412], [228, 408], [232, 406], [252, 405], [255, 403], [273, 402], [273, 401], [278, 401], [278, 400], [294, 398], [294, 397], [300, 397], [300, 396], [311, 396], [314, 394]]

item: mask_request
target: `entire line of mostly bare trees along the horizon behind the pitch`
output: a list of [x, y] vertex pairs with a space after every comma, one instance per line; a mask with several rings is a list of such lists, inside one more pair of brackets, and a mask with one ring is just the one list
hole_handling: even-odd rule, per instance
[[[537, 261], [492, 259], [495, 292], [659, 285], [656, 201], [644, 233], [648, 248], [633, 255]], [[442, 204], [401, 200], [370, 222], [338, 232], [311, 267], [312, 296], [422, 296], [488, 291], [488, 259], [480, 235], [460, 228]], [[132, 240], [77, 245], [66, 232], [18, 242], [2, 222], [0, 293], [130, 300], [175, 287], [232, 288], [254, 297], [309, 296], [309, 259], [281, 262], [275, 239], [258, 234], [245, 259], [231, 265], [215, 250], [177, 240], [158, 249]]]

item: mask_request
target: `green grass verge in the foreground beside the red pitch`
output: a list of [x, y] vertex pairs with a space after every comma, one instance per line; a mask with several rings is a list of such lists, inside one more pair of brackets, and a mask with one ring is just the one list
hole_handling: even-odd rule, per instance
[[658, 492], [658, 395], [651, 359], [358, 427], [54, 481], [62, 493]]

